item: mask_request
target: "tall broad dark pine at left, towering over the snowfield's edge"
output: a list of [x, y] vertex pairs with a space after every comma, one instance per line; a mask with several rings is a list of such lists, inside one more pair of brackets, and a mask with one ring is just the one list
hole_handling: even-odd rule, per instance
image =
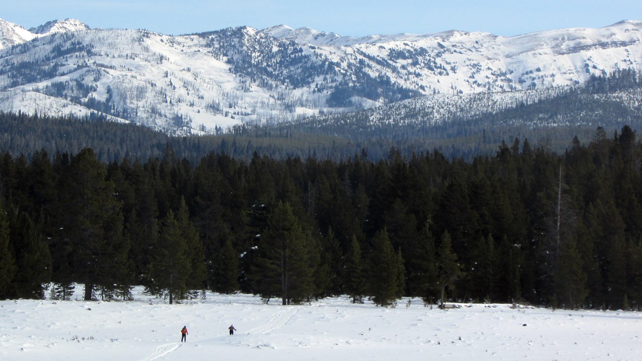
[[129, 250], [114, 184], [106, 176], [105, 165], [91, 148], [84, 148], [71, 158], [60, 180], [60, 207], [65, 211], [57, 213], [58, 242], [71, 249], [72, 279], [84, 283], [85, 301], [94, 297], [95, 286], [110, 288], [117, 282], [116, 274], [125, 267]]

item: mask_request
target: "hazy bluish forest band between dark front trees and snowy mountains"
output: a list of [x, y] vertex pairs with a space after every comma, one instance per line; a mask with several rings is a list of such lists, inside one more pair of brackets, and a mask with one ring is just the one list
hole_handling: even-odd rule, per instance
[[[459, 115], [434, 123], [430, 109], [396, 103], [292, 123], [238, 125], [216, 136], [168, 136], [147, 127], [105, 121], [95, 113], [78, 119], [0, 112], [0, 150], [30, 158], [35, 150], [46, 150], [49, 155], [76, 154], [89, 147], [104, 163], [123, 158], [144, 162], [162, 157], [169, 144], [177, 157], [196, 164], [210, 152], [225, 153], [246, 162], [255, 152], [274, 159], [311, 157], [339, 162], [351, 159], [362, 149], [372, 161], [385, 159], [390, 148], [399, 150], [406, 158], [426, 149], [437, 149], [447, 159], [471, 162], [478, 155], [494, 154], [503, 139], [528, 138], [534, 144], [562, 153], [568, 147], [568, 139], [577, 136], [587, 143], [596, 127], [602, 127], [608, 134], [624, 125], [642, 128], [642, 112], [635, 105], [641, 84], [638, 72], [622, 69], [609, 76], [592, 76], [577, 88], [553, 91], [553, 95], [542, 96], [534, 103], [526, 101], [474, 118]], [[467, 107], [480, 102], [484, 103], [473, 101]], [[459, 113], [466, 111], [459, 109], [456, 114]]]

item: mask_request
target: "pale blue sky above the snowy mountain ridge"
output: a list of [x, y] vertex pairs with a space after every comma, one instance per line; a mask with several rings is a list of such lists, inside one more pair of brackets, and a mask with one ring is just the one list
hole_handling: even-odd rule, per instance
[[247, 25], [286, 24], [340, 35], [436, 33], [446, 30], [519, 35], [558, 28], [599, 28], [642, 21], [639, 0], [14, 0], [0, 19], [25, 28], [71, 17], [92, 28], [128, 28], [166, 34]]

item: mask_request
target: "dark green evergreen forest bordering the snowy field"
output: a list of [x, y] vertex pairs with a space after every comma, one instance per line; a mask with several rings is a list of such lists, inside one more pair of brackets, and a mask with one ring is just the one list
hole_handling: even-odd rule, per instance
[[[53, 160], [52, 160], [53, 159]], [[211, 153], [0, 159], [0, 297], [170, 302], [195, 290], [300, 303], [642, 306], [642, 145], [629, 127], [562, 155], [527, 139], [472, 162]]]

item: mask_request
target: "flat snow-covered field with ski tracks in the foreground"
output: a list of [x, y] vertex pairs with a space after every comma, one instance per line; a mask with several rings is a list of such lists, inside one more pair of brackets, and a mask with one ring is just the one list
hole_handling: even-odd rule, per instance
[[[82, 288], [76, 291], [81, 299]], [[0, 360], [640, 360], [638, 312], [331, 298], [304, 306], [207, 294], [169, 305], [0, 301]], [[227, 328], [234, 324], [235, 335]], [[187, 326], [187, 342], [180, 329]]]

